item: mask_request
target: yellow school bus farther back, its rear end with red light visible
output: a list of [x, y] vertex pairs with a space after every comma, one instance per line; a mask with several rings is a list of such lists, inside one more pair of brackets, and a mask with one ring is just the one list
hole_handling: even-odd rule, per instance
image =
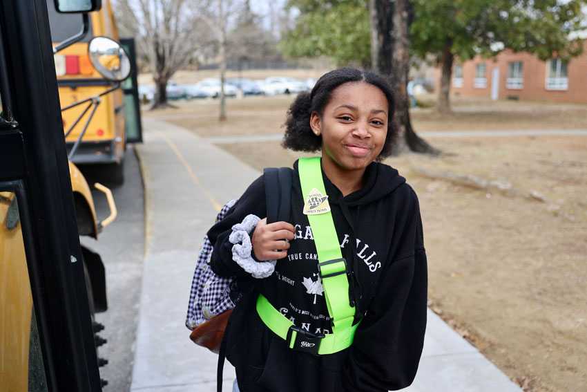
[[[79, 34], [83, 22], [80, 15], [56, 12], [53, 1], [47, 3], [52, 41], [57, 46]], [[125, 97], [124, 86], [113, 88], [116, 84], [99, 73], [88, 58], [88, 43], [93, 37], [119, 41], [110, 0], [102, 0], [102, 5], [101, 10], [88, 15], [84, 37], [55, 54], [55, 71], [69, 159], [75, 164], [102, 165], [108, 180], [119, 184], [124, 180], [126, 142], [139, 141], [140, 121], [138, 106]], [[121, 66], [114, 51], [104, 53], [99, 64], [111, 70]]]

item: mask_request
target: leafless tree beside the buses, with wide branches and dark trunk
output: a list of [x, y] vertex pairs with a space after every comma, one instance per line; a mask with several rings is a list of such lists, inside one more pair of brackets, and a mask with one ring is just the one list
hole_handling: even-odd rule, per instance
[[195, 35], [204, 0], [117, 0], [115, 8], [123, 29], [134, 32], [137, 46], [146, 54], [156, 86], [151, 109], [169, 106], [167, 82], [191, 59], [201, 44]]

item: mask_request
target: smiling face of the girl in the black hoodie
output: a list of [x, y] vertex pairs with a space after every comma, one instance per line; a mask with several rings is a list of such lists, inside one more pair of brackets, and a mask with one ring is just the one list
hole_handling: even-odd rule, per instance
[[359, 171], [373, 162], [385, 144], [389, 105], [372, 84], [348, 82], [332, 91], [322, 115], [314, 112], [310, 126], [322, 135], [323, 169]]

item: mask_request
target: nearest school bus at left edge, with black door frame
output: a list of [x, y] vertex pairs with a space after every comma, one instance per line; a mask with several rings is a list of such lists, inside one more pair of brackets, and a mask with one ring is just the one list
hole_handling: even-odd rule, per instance
[[[58, 9], [88, 21], [86, 12], [100, 6], [0, 1], [1, 391], [94, 392], [104, 384], [92, 317], [106, 307], [105, 287], [95, 287], [104, 284], [104, 265], [79, 235], [97, 236], [115, 212], [97, 221], [90, 187], [68, 162], [48, 15]], [[72, 37], [57, 54], [83, 34]], [[107, 91], [132, 67], [119, 44], [94, 38], [88, 58], [113, 83]]]

